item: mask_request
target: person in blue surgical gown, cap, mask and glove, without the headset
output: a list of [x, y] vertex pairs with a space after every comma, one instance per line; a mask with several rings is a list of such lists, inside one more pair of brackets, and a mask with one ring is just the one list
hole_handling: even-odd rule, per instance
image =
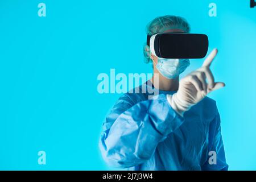
[[[149, 36], [189, 31], [179, 16], [160, 16], [147, 26]], [[100, 150], [106, 163], [129, 170], [227, 170], [220, 115], [216, 102], [206, 97], [225, 86], [214, 82], [209, 68], [217, 49], [200, 69], [181, 80], [189, 60], [158, 58], [148, 45], [143, 51], [154, 68], [146, 84], [158, 85], [154, 89], [159, 95], [151, 100], [148, 93], [133, 92], [119, 98], [101, 133]]]

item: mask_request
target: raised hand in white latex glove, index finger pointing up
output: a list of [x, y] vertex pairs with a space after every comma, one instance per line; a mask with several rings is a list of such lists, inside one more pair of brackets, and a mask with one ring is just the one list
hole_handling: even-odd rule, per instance
[[197, 102], [207, 96], [208, 93], [225, 86], [224, 82], [214, 82], [213, 74], [209, 68], [216, 55], [217, 49], [213, 49], [201, 68], [180, 80], [177, 93], [173, 95], [167, 94], [167, 100], [172, 109], [177, 111], [181, 116], [191, 106], [197, 104]]

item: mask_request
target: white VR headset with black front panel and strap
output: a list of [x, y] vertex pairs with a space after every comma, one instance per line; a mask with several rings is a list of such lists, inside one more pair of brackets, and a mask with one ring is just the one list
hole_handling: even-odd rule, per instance
[[147, 36], [147, 45], [156, 57], [167, 59], [199, 59], [208, 51], [205, 34], [163, 32]]

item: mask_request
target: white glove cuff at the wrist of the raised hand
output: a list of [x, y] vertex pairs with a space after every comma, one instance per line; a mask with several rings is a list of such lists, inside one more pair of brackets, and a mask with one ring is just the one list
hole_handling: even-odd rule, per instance
[[190, 107], [192, 106], [191, 104], [188, 104], [187, 102], [180, 100], [177, 97], [177, 93], [173, 95], [167, 94], [166, 97], [172, 109], [174, 109], [179, 115], [181, 115], [181, 117], [183, 117], [184, 112], [189, 110]]

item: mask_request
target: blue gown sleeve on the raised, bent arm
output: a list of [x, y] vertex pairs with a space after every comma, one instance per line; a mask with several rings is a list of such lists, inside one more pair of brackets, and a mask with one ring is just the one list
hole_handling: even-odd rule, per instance
[[136, 104], [129, 94], [124, 94], [103, 124], [101, 154], [110, 166], [137, 166], [150, 159], [158, 143], [183, 121], [168, 104], [165, 94]]

